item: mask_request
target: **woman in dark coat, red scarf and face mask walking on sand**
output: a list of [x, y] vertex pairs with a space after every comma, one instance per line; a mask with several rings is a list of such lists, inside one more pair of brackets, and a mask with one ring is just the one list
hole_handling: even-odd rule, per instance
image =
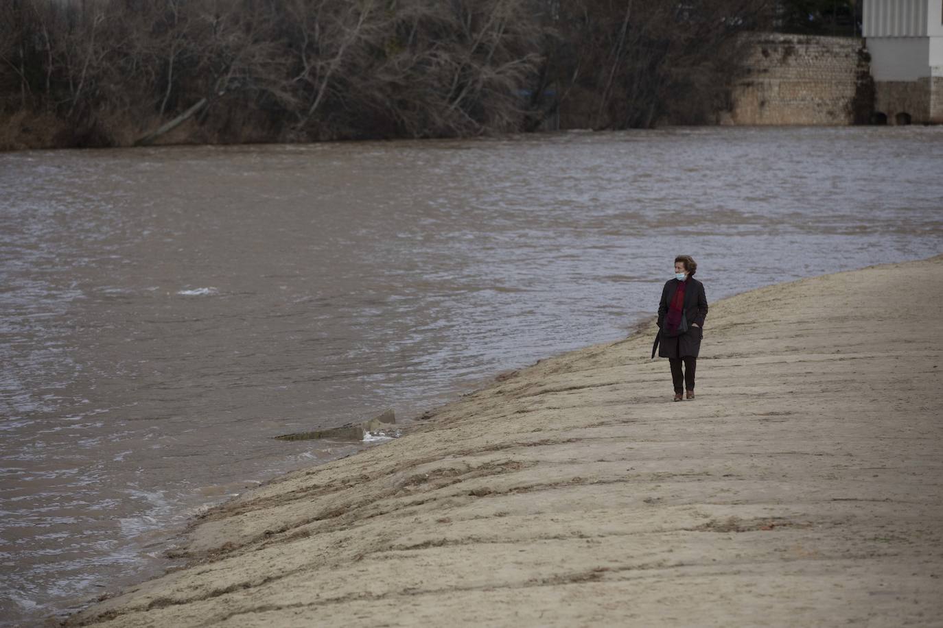
[[688, 399], [694, 398], [694, 373], [707, 317], [704, 285], [694, 279], [697, 269], [698, 264], [690, 255], [675, 257], [674, 279], [665, 283], [658, 305], [658, 355], [668, 358], [671, 365], [675, 401], [684, 399], [685, 391]]

